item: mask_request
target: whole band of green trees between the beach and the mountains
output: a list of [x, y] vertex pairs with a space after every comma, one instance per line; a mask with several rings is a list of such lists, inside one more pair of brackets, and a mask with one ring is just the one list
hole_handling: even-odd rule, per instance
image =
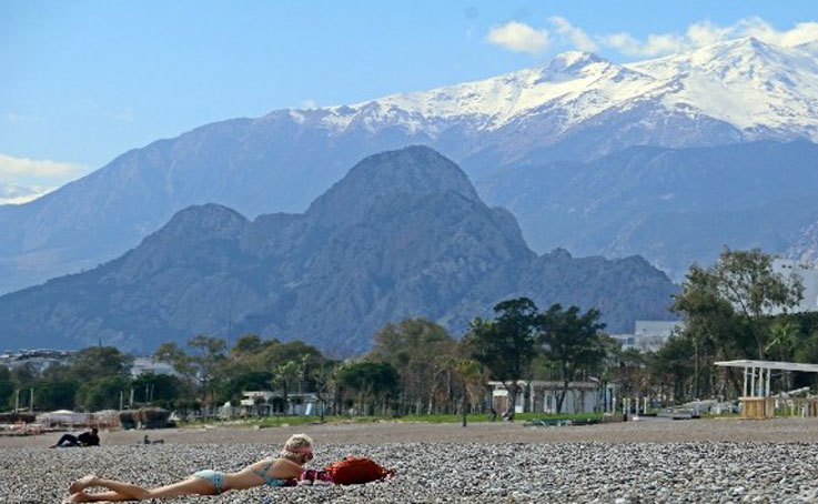
[[[488, 411], [486, 384], [495, 381], [508, 391], [511, 414], [523, 392], [519, 381], [558, 382], [562, 411], [570, 382], [592, 377], [616, 383], [620, 397], [649, 396], [662, 404], [735, 397], [739, 376], [716, 370], [715, 361], [818, 362], [818, 315], [788, 313], [802, 292], [796, 278], [774, 273], [769, 255], [725, 250], [715, 265], [690, 268], [681, 292], [669, 300], [685, 327], [656, 352], [623, 349], [604, 332], [597, 310], [541, 310], [516, 298], [494, 306], [491, 319], [475, 317], [460, 339], [424, 317], [388, 323], [374, 335], [372, 350], [354, 360], [327, 357], [297, 340], [244, 334], [229, 345], [198, 335], [154, 352], [176, 374], [131, 377], [132, 356], [88, 347], [42, 373], [26, 365], [0, 369], [0, 404], [12, 407], [22, 390], [20, 406], [33, 396], [40, 411], [154, 405], [184, 414], [238, 404], [244, 391], [270, 390], [284, 404], [295, 393], [314, 393], [330, 414], [465, 415]], [[785, 390], [812, 383], [807, 375], [774, 379]]]

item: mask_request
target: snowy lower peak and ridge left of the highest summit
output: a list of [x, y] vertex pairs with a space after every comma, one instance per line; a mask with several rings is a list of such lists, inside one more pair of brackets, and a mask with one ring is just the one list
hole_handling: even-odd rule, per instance
[[332, 107], [323, 122], [339, 129], [356, 121], [370, 128], [402, 124], [435, 135], [448, 125], [444, 121], [496, 130], [536, 114], [546, 104], [558, 104], [566, 111], [564, 125], [569, 127], [653, 85], [654, 79], [646, 74], [595, 54], [569, 51], [547, 64], [493, 79]]

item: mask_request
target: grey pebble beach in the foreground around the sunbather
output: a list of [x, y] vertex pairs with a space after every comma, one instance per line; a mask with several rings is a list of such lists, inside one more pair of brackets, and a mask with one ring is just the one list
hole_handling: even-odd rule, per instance
[[[201, 468], [238, 471], [295, 432], [315, 441], [311, 467], [363, 455], [397, 476], [162, 502], [818, 502], [818, 421], [809, 419], [115, 431], [100, 447], [57, 450], [48, 448], [54, 434], [0, 437], [0, 502], [59, 503], [88, 473], [155, 486]], [[145, 433], [163, 443], [138, 444]]]

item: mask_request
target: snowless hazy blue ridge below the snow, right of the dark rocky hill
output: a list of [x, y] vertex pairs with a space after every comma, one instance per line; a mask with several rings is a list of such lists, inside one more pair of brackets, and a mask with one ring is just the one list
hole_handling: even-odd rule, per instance
[[535, 249], [639, 253], [678, 279], [724, 245], [784, 251], [798, 240], [818, 220], [818, 145], [633, 148], [521, 168], [483, 191], [507, 202]]

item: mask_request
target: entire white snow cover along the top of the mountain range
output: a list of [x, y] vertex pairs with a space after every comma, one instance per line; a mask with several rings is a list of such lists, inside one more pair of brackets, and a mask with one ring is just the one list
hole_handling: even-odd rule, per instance
[[785, 49], [745, 38], [624, 65], [570, 51], [492, 79], [312, 112], [337, 131], [397, 125], [431, 138], [453, 123], [493, 131], [546, 114], [556, 125], [543, 140], [556, 141], [600, 113], [652, 101], [668, 113], [723, 121], [747, 139], [817, 140], [817, 48]]

